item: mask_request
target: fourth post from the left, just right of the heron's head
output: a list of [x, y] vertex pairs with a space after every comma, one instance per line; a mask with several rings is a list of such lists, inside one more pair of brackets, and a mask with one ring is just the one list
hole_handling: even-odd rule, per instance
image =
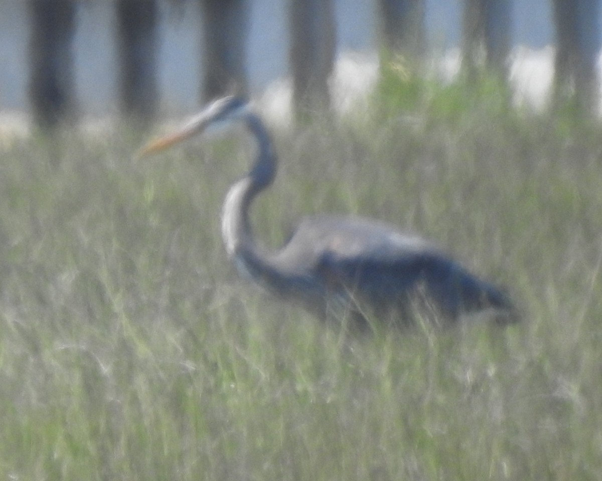
[[298, 117], [330, 109], [336, 26], [332, 0], [292, 0], [290, 62], [293, 108]]

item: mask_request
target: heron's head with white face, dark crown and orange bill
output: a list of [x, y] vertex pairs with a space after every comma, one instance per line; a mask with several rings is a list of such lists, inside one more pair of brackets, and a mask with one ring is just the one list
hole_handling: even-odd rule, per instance
[[155, 139], [144, 146], [139, 156], [161, 152], [174, 144], [191, 138], [209, 128], [225, 126], [244, 118], [249, 112], [249, 104], [238, 97], [223, 97], [210, 103], [199, 114], [194, 115], [184, 125], [166, 136]]

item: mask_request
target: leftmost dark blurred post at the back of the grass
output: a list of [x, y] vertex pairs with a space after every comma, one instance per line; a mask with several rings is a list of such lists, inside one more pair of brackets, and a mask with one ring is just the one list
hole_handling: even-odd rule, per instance
[[43, 128], [57, 126], [73, 114], [72, 0], [29, 0], [29, 97]]

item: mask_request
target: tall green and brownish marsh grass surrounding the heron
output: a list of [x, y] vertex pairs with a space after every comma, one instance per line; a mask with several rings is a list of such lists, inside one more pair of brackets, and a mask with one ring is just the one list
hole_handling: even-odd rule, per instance
[[0, 478], [598, 479], [597, 127], [425, 91], [409, 117], [273, 129], [256, 230], [278, 245], [330, 211], [420, 231], [506, 285], [521, 325], [344, 338], [238, 280], [219, 211], [240, 141], [5, 141]]

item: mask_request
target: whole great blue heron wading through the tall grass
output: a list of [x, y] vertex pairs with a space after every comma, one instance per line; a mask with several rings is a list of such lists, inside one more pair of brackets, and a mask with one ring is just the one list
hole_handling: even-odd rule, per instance
[[[268, 252], [255, 242], [249, 207], [276, 173], [276, 155], [261, 119], [243, 100], [225, 97], [207, 106], [172, 135], [148, 144], [142, 154], [158, 152], [218, 123], [238, 120], [254, 136], [258, 156], [229, 189], [222, 210], [222, 235], [238, 270], [287, 299], [302, 301], [320, 317], [365, 313], [405, 319], [408, 305], [420, 298], [441, 319], [494, 309], [498, 322], [514, 320], [509, 299], [471, 275], [427, 240], [383, 222], [357, 216], [318, 215], [300, 222], [281, 250]], [[332, 312], [331, 312], [332, 311]], [[389, 316], [388, 319], [391, 319]]]

